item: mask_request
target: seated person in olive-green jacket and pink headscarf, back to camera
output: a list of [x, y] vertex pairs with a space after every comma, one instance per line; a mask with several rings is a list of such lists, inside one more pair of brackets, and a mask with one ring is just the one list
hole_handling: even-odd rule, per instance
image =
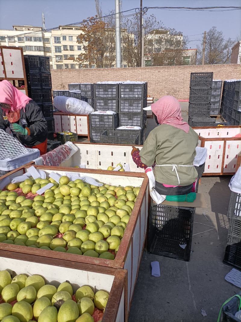
[[159, 125], [149, 133], [141, 151], [133, 147], [133, 161], [144, 169], [154, 166], [159, 194], [189, 194], [198, 177], [193, 166], [198, 135], [183, 121], [181, 106], [173, 96], [163, 96], [151, 110]]

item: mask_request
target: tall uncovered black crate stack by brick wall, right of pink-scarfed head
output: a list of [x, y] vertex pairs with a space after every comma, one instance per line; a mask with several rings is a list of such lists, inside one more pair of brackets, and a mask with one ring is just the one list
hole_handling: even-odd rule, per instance
[[213, 73], [191, 73], [188, 109], [188, 124], [212, 126], [215, 120], [210, 118], [211, 87]]

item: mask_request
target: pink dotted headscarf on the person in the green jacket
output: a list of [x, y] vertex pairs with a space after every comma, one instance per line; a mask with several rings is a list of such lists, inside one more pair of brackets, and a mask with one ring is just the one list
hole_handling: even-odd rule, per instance
[[183, 122], [181, 116], [181, 105], [173, 96], [163, 96], [156, 103], [151, 105], [153, 113], [159, 124], [169, 124], [174, 128], [180, 128], [186, 133], [189, 132], [189, 125]]

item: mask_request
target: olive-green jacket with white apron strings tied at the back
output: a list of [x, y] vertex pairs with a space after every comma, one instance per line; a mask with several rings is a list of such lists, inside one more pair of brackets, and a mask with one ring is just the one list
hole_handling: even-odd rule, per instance
[[[198, 145], [198, 135], [190, 127], [188, 133], [171, 125], [158, 125], [148, 135], [140, 151], [141, 162], [147, 166], [193, 165]], [[155, 166], [156, 181], [166, 185], [178, 185], [172, 166]], [[191, 185], [198, 174], [194, 167], [178, 166], [180, 186]]]

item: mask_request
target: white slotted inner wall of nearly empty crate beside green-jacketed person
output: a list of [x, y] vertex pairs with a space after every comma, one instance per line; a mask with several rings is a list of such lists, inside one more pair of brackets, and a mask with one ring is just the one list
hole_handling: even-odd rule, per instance
[[[78, 151], [61, 166], [74, 167], [85, 165], [87, 169], [106, 170], [108, 166], [116, 166], [121, 163], [122, 166], [129, 164], [131, 172], [145, 173], [144, 169], [138, 167], [132, 160], [131, 145], [112, 145], [101, 143], [75, 142]], [[141, 150], [142, 146], [138, 146]]]

